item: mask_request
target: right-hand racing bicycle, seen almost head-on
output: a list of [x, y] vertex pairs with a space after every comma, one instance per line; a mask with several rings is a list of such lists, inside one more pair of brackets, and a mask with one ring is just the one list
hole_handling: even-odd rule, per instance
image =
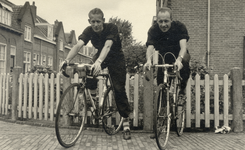
[[[169, 52], [166, 54], [171, 54], [176, 60], [176, 57], [172, 53]], [[164, 57], [161, 56], [163, 62], [166, 54]], [[171, 120], [174, 121], [173, 125], [177, 135], [181, 136], [183, 134], [186, 101], [182, 102], [178, 99], [182, 78], [180, 77], [177, 66], [175, 64], [164, 63], [153, 65], [152, 67], [155, 70], [161, 67], [164, 73], [163, 83], [158, 85], [156, 90], [153, 109], [153, 130], [157, 145], [160, 150], [163, 150], [166, 148], [169, 139]]]

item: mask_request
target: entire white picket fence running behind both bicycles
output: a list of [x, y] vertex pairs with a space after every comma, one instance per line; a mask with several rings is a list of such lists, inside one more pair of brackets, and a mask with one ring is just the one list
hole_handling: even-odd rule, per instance
[[[39, 120], [54, 120], [54, 115], [58, 102], [60, 100], [60, 74], [48, 77], [48, 74], [43, 76], [42, 74], [20, 74], [19, 76], [19, 98], [18, 98], [18, 117], [20, 118], [33, 118]], [[9, 95], [9, 74], [0, 75], [0, 114], [7, 115], [10, 112], [11, 104], [8, 99]], [[78, 79], [75, 79], [78, 80]], [[134, 75], [134, 79], [130, 80], [127, 75], [126, 80], [126, 92], [129, 97], [129, 101], [133, 103], [134, 111], [130, 118], [133, 119], [133, 126], [139, 126], [139, 122], [143, 119], [143, 113], [139, 113], [139, 88], [142, 86], [142, 77], [139, 74]], [[232, 120], [232, 114], [229, 114], [229, 87], [231, 86], [231, 80], [227, 75], [223, 76], [222, 80], [219, 80], [218, 75], [215, 75], [213, 80], [210, 80], [210, 76], [206, 75], [205, 80], [200, 80], [200, 76], [196, 75], [195, 80], [191, 78], [187, 84], [187, 109], [186, 109], [186, 127], [191, 127], [192, 120], [195, 121], [195, 127], [200, 127], [200, 121], [205, 120], [205, 127], [210, 127], [210, 120], [214, 121], [215, 126], [219, 126], [220, 120], [223, 120], [224, 125], [228, 125], [228, 121]], [[244, 86], [244, 81], [242, 82]], [[56, 87], [56, 88], [54, 88]], [[130, 90], [130, 88], [132, 88]], [[201, 107], [201, 88], [204, 87], [205, 93], [205, 108], [200, 112]], [[211, 88], [213, 87], [213, 88]], [[219, 87], [222, 88], [223, 93], [219, 93]], [[192, 89], [195, 93], [195, 111], [191, 112], [191, 95]], [[99, 97], [102, 97], [103, 79], [99, 81]], [[212, 91], [211, 89], [214, 89]], [[130, 96], [130, 91], [133, 90], [133, 97]], [[214, 104], [210, 104], [211, 95], [214, 93]], [[132, 93], [132, 92], [131, 92]], [[223, 99], [219, 98], [219, 95], [223, 94]], [[219, 112], [219, 102], [223, 102], [223, 113]], [[210, 106], [214, 105], [214, 113], [210, 113]], [[147, 107], [147, 106], [146, 106]], [[90, 116], [91, 113], [88, 113]], [[243, 115], [245, 119], [245, 116]]]

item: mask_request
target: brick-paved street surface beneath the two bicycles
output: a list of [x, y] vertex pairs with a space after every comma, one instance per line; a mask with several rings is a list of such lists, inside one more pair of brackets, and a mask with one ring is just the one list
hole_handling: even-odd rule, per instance
[[[132, 132], [132, 139], [123, 140], [122, 133], [109, 136], [100, 131], [84, 131], [76, 145], [68, 150], [157, 150], [155, 140], [149, 138], [150, 133]], [[168, 148], [171, 150], [201, 149], [244, 149], [245, 134], [214, 134], [213, 132], [185, 132], [177, 137], [171, 132]], [[1, 150], [64, 150], [59, 145], [54, 128], [16, 124], [0, 121]]]

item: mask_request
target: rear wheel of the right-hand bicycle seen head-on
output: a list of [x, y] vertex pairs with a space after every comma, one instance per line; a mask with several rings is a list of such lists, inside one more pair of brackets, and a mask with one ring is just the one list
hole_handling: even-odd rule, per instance
[[[177, 86], [176, 91], [178, 90], [179, 86]], [[178, 92], [176, 92], [176, 98], [178, 98]], [[178, 104], [176, 103], [175, 107], [175, 131], [178, 136], [181, 136], [183, 134], [184, 128], [185, 128], [185, 112], [186, 112], [186, 103], [184, 104]]]

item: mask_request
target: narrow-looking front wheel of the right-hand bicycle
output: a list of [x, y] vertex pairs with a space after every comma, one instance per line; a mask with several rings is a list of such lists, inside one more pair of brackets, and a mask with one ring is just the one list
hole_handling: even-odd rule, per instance
[[[171, 113], [167, 114], [166, 93], [168, 89], [164, 89], [164, 85], [160, 84], [157, 88], [156, 100], [153, 109], [153, 130], [155, 132], [157, 146], [160, 150], [166, 148], [170, 134]], [[163, 92], [164, 91], [164, 92]]]

